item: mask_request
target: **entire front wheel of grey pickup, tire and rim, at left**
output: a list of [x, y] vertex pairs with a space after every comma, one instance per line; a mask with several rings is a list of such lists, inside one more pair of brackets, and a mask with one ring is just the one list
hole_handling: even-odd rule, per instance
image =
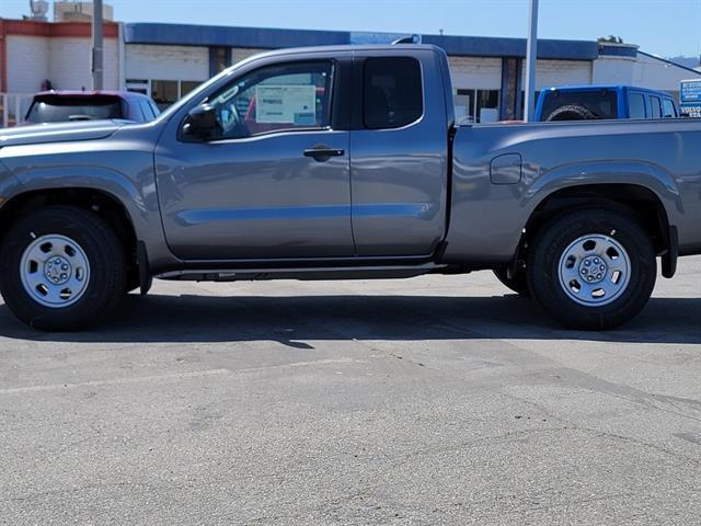
[[0, 249], [0, 291], [31, 327], [66, 331], [104, 320], [124, 297], [124, 249], [100, 217], [50, 206], [21, 218]]

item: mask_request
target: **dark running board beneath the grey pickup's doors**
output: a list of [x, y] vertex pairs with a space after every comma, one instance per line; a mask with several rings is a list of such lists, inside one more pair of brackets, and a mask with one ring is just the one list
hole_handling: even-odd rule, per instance
[[391, 279], [421, 276], [446, 268], [426, 263], [402, 266], [342, 266], [309, 268], [184, 270], [158, 274], [159, 279], [185, 282], [243, 282], [258, 279]]

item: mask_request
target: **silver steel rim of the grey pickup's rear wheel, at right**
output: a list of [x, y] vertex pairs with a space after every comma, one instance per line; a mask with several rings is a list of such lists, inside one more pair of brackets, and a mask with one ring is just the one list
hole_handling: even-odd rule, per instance
[[616, 239], [583, 236], [560, 258], [560, 285], [579, 305], [600, 307], [618, 299], [631, 279], [631, 260]]

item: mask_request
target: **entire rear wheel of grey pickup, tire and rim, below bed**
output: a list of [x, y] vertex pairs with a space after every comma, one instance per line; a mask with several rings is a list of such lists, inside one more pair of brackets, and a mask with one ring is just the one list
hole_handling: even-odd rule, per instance
[[607, 209], [561, 215], [529, 252], [531, 295], [572, 329], [610, 329], [647, 304], [657, 275], [650, 237], [630, 216]]

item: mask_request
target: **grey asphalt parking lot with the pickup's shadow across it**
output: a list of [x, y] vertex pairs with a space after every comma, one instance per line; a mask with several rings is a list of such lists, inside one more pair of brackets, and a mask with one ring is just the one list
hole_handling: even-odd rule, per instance
[[601, 333], [491, 273], [0, 306], [0, 524], [700, 524], [700, 278]]

